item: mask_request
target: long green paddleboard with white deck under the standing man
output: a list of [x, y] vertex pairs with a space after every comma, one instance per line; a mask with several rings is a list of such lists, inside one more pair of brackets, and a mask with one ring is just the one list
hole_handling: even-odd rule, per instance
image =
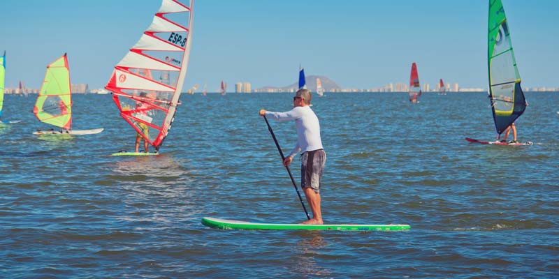
[[409, 225], [357, 225], [357, 224], [328, 224], [328, 225], [303, 225], [303, 224], [270, 224], [250, 223], [238, 220], [219, 218], [202, 218], [202, 224], [217, 229], [306, 229], [324, 231], [401, 231], [409, 229]]

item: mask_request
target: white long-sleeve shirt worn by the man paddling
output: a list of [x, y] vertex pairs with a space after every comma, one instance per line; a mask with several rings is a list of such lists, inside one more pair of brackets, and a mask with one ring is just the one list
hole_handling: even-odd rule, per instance
[[313, 151], [323, 149], [320, 139], [320, 123], [317, 114], [311, 110], [310, 106], [293, 107], [289, 112], [268, 112], [266, 116], [272, 117], [277, 121], [295, 120], [297, 128], [297, 144], [289, 153], [293, 158], [299, 151]]

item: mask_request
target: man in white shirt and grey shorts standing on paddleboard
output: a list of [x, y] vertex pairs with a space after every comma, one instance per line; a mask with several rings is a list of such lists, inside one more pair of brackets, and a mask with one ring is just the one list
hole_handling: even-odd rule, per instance
[[295, 120], [297, 144], [289, 153], [283, 164], [287, 167], [299, 151], [301, 154], [301, 188], [310, 204], [312, 218], [303, 222], [309, 225], [321, 225], [320, 184], [326, 163], [326, 153], [320, 139], [320, 123], [317, 114], [310, 108], [311, 93], [300, 89], [293, 97], [293, 110], [289, 112], [268, 112], [260, 110], [261, 116], [272, 117], [277, 121]]

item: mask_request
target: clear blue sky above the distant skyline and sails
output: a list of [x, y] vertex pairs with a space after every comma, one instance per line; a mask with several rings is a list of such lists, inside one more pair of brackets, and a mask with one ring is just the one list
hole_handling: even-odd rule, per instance
[[[72, 83], [103, 87], [151, 23], [159, 0], [10, 0], [0, 17], [6, 87], [38, 88], [45, 66], [68, 53]], [[559, 87], [559, 1], [503, 0], [523, 85]], [[184, 90], [219, 82], [252, 88], [326, 75], [343, 88], [442, 78], [487, 88], [488, 1], [198, 0]]]

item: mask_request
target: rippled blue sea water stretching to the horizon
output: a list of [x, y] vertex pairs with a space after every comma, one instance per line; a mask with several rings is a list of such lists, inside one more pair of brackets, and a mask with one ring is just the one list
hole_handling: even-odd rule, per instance
[[[464, 140], [495, 138], [485, 93], [425, 93], [417, 104], [407, 93], [314, 95], [327, 153], [325, 222], [412, 229], [201, 225], [204, 216], [305, 220], [258, 116], [290, 110], [292, 96], [184, 94], [161, 155], [126, 158], [109, 156], [132, 151], [136, 138], [110, 95], [75, 94], [73, 128], [105, 130], [64, 137], [31, 135], [50, 128], [32, 113], [35, 95], [7, 95], [3, 120], [22, 122], [0, 126], [0, 277], [559, 276], [559, 93], [526, 93], [516, 127], [532, 146]], [[293, 122], [270, 125], [289, 152]]]

